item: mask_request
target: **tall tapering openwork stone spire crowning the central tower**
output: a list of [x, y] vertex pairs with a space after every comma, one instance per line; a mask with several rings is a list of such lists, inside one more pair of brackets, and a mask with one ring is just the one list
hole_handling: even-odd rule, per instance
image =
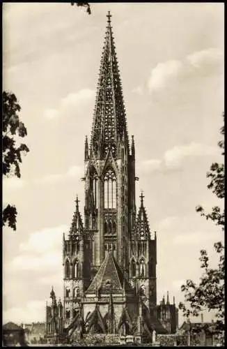
[[105, 156], [109, 149], [116, 156], [118, 141], [123, 138], [128, 144], [125, 107], [110, 13], [107, 18], [91, 134], [91, 151], [98, 157]]

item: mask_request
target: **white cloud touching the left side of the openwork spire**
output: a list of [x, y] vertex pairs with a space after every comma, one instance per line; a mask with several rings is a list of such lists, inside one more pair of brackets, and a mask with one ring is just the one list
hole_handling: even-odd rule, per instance
[[95, 91], [91, 89], [81, 89], [75, 93], [70, 93], [61, 99], [58, 109], [47, 109], [43, 113], [45, 119], [56, 119], [65, 117], [75, 112], [84, 111], [87, 105], [95, 101]]

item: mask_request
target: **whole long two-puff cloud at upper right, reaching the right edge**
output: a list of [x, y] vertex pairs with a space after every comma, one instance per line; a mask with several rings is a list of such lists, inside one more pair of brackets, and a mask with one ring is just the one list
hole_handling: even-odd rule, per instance
[[158, 63], [152, 68], [148, 78], [148, 91], [160, 91], [166, 87], [173, 87], [175, 82], [182, 82], [182, 77], [198, 75], [198, 69], [212, 73], [212, 68], [217, 68], [221, 62], [224, 64], [224, 55], [221, 50], [211, 47], [208, 50], [196, 51], [185, 59], [169, 60]]

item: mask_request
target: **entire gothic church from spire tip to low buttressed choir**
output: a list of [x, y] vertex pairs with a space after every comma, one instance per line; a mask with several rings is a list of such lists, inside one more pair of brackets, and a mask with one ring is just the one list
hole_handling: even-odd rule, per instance
[[111, 15], [107, 18], [91, 140], [86, 137], [84, 145], [84, 221], [77, 198], [70, 231], [63, 234], [63, 304], [52, 290], [47, 306], [45, 337], [54, 343], [74, 334], [130, 334], [152, 341], [153, 330], [174, 333], [178, 325], [175, 304], [169, 317], [167, 304], [157, 306], [157, 236], [143, 193], [136, 209], [134, 137], [127, 131]]

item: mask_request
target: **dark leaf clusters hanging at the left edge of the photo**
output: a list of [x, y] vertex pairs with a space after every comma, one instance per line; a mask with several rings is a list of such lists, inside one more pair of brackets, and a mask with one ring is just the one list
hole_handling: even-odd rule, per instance
[[[16, 176], [20, 178], [19, 163], [22, 163], [22, 154], [26, 154], [29, 148], [26, 144], [19, 144], [15, 137], [24, 138], [27, 135], [26, 127], [19, 120], [18, 112], [21, 107], [17, 103], [15, 94], [3, 91], [2, 94], [2, 171], [6, 177]], [[15, 206], [7, 205], [3, 209], [3, 225], [8, 223], [10, 228], [16, 230], [17, 209]]]

